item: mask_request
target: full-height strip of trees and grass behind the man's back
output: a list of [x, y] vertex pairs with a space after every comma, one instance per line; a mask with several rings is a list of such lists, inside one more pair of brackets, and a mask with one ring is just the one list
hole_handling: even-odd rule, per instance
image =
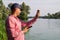
[[2, 0], [0, 0], [0, 40], [7, 40], [6, 30], [5, 30], [5, 19], [9, 14], [9, 9], [3, 5]]

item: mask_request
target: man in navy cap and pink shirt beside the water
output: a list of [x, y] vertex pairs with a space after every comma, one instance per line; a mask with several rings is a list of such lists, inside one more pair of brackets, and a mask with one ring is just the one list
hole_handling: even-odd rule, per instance
[[[28, 31], [31, 26], [39, 17], [39, 10], [37, 10], [36, 16], [28, 21], [23, 22], [17, 16], [21, 13], [21, 6], [18, 3], [14, 3], [11, 6], [11, 14], [6, 19], [6, 32], [8, 40], [25, 40], [24, 33]], [[22, 30], [22, 27], [26, 27]]]

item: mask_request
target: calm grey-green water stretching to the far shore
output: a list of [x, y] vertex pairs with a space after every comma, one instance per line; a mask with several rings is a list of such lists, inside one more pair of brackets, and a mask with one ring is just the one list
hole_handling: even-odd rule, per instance
[[60, 19], [38, 19], [25, 38], [26, 40], [60, 40]]

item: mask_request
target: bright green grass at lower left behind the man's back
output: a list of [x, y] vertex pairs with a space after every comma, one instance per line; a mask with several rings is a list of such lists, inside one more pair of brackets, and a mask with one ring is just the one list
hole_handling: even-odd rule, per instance
[[0, 20], [0, 40], [7, 40], [5, 20]]

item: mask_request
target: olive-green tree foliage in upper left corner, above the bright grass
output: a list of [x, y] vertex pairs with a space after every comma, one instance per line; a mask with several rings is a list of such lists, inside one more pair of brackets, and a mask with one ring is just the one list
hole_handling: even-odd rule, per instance
[[5, 20], [9, 13], [9, 9], [3, 5], [2, 0], [0, 0], [0, 19]]

